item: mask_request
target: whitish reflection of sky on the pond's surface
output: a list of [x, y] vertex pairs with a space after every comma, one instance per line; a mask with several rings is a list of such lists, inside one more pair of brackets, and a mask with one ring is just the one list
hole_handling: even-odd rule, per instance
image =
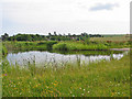
[[[113, 58], [120, 59], [123, 57], [123, 54], [113, 54]], [[31, 51], [31, 52], [24, 52], [24, 53], [18, 53], [18, 54], [8, 54], [7, 59], [10, 62], [10, 64], [15, 64], [15, 62], [19, 65], [26, 65], [29, 62], [33, 63], [35, 61], [35, 64], [45, 64], [45, 63], [56, 63], [56, 64], [64, 64], [64, 63], [76, 63], [77, 61], [80, 61], [80, 64], [85, 63], [88, 64], [89, 62], [99, 62], [102, 59], [110, 61], [110, 55], [63, 55], [57, 53], [50, 53], [50, 52], [38, 52], [38, 51]]]

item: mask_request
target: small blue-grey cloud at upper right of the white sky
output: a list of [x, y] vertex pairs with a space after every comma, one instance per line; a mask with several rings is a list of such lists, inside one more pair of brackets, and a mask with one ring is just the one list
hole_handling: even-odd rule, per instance
[[102, 4], [102, 3], [98, 3], [96, 4], [95, 7], [91, 7], [89, 10], [90, 11], [99, 11], [99, 10], [112, 10], [114, 7], [119, 7], [118, 3], [106, 3], [106, 4]]

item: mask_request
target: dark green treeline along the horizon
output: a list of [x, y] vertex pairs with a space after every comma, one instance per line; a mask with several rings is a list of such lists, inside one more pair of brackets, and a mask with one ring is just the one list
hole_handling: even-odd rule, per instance
[[89, 37], [102, 37], [102, 35], [99, 34], [87, 34], [81, 33], [80, 35], [70, 34], [68, 35], [62, 35], [57, 34], [56, 32], [48, 33], [48, 35], [40, 35], [40, 34], [16, 34], [13, 36], [9, 36], [8, 33], [4, 33], [4, 35], [1, 35], [2, 41], [85, 41]]

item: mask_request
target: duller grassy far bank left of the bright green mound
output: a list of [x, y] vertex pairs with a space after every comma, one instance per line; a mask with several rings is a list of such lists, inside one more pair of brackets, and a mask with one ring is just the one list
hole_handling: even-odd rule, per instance
[[47, 51], [56, 44], [56, 41], [37, 41], [37, 42], [3, 42], [9, 51]]

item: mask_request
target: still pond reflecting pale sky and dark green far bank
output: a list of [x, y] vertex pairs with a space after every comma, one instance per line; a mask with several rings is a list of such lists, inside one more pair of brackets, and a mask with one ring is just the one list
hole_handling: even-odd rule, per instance
[[80, 64], [89, 64], [99, 61], [110, 61], [111, 58], [120, 59], [128, 52], [122, 53], [108, 53], [105, 51], [87, 51], [87, 52], [47, 52], [47, 51], [30, 51], [30, 52], [19, 52], [19, 53], [9, 53], [7, 55], [7, 59], [10, 64], [19, 64], [20, 66], [26, 66], [28, 63], [35, 62], [35, 65], [42, 66], [44, 64], [56, 64], [59, 66], [61, 64], [70, 63], [76, 64], [80, 62]]

